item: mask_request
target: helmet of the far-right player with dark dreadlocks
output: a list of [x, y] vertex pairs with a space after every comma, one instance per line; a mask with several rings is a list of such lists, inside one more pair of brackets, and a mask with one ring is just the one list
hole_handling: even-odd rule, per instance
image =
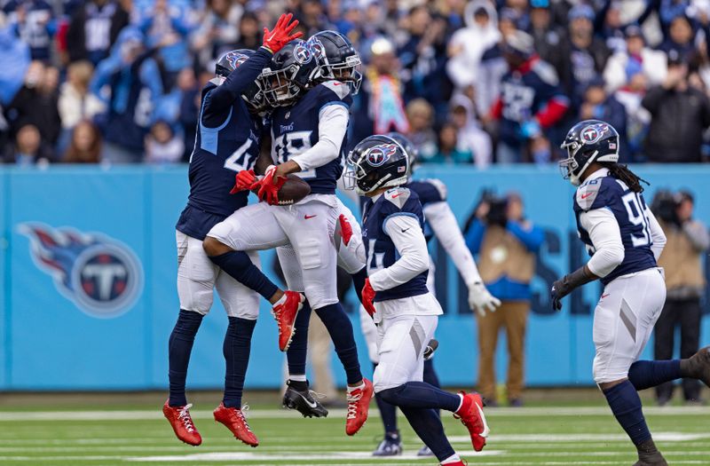
[[572, 126], [560, 148], [567, 158], [559, 162], [564, 179], [580, 186], [582, 173], [592, 162], [619, 161], [619, 133], [601, 120], [585, 120]]

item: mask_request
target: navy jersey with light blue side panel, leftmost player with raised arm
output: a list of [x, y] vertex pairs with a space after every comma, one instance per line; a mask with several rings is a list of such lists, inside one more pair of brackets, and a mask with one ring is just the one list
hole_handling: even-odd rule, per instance
[[254, 167], [264, 125], [260, 117], [249, 114], [241, 91], [254, 82], [271, 57], [270, 52], [259, 49], [227, 76], [225, 83], [217, 86], [210, 82], [202, 90], [190, 156], [188, 208], [177, 223], [177, 229], [188, 236], [204, 239], [212, 226], [247, 205], [248, 191], [229, 191], [238, 171]]

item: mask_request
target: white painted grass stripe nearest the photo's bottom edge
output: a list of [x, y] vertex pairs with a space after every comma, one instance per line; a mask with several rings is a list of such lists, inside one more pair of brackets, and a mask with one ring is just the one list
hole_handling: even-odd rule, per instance
[[[474, 452], [473, 450], [458, 452], [465, 456], [497, 456], [499, 454], [505, 454], [506, 452], [502, 450], [487, 450], [483, 452]], [[371, 460], [371, 452], [335, 452], [330, 454], [258, 454], [258, 453], [241, 453], [241, 452], [228, 452], [228, 453], [198, 453], [198, 454], [183, 454], [183, 455], [165, 455], [165, 456], [134, 456], [124, 458], [125, 461], [130, 462], [227, 462], [227, 461], [288, 461], [288, 460], [304, 460], [304, 461], [328, 461], [328, 460]], [[387, 457], [383, 456], [378, 458], [378, 461], [387, 462], [392, 461], [402, 461], [402, 460], [422, 460], [421, 456], [416, 454], [400, 454], [397, 456]]]

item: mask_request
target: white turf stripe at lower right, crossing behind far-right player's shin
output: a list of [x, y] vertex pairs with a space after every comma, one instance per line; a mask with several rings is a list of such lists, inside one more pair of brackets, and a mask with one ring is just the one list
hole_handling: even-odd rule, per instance
[[[469, 442], [469, 436], [453, 435], [448, 436], [451, 442]], [[710, 433], [687, 433], [687, 432], [658, 432], [653, 434], [653, 439], [661, 442], [687, 442], [691, 440], [701, 440], [710, 438]], [[586, 442], [591, 441], [623, 441], [628, 442], [628, 437], [624, 434], [491, 434], [488, 437], [490, 442]]]

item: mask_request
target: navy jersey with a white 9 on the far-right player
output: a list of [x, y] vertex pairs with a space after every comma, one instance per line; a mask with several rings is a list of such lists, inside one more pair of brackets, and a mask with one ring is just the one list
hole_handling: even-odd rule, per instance
[[651, 228], [645, 215], [646, 202], [643, 195], [634, 193], [624, 182], [611, 176], [591, 178], [583, 183], [574, 195], [574, 214], [580, 239], [593, 255], [594, 245], [589, 233], [580, 225], [582, 212], [591, 209], [610, 209], [619, 223], [621, 241], [624, 244], [624, 261], [609, 275], [601, 279], [606, 285], [627, 273], [641, 272], [656, 266], [651, 250]]

